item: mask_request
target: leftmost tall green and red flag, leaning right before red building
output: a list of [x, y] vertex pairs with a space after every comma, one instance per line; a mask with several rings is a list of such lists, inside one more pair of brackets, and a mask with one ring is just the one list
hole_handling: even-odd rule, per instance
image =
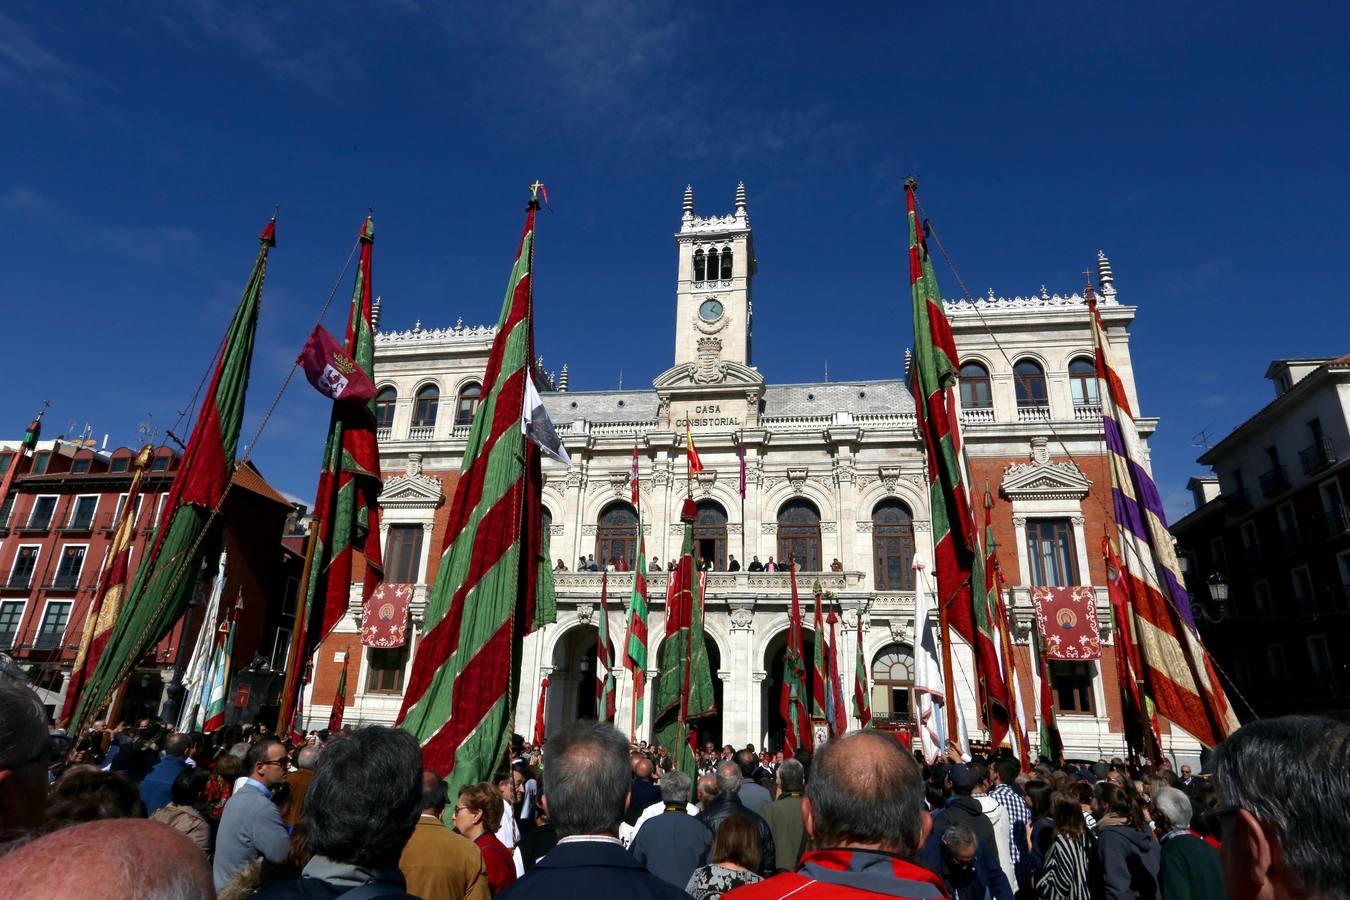
[[215, 374], [165, 501], [161, 521], [166, 524], [158, 528], [150, 551], [136, 567], [122, 615], [80, 699], [72, 730], [92, 719], [116, 685], [182, 617], [208, 555], [212, 560], [207, 571], [215, 569], [219, 548], [212, 546], [215, 541], [208, 540], [207, 530], [235, 472], [267, 252], [277, 244], [275, 219], [262, 229], [259, 242], [258, 258], [220, 344]]

